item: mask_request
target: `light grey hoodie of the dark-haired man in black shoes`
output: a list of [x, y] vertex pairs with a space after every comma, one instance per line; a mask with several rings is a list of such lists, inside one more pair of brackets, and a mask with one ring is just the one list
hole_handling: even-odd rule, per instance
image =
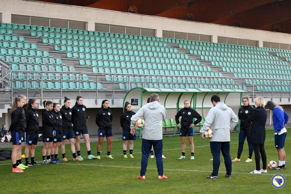
[[213, 136], [210, 141], [230, 141], [230, 130], [237, 125], [238, 118], [231, 108], [223, 102], [210, 108], [205, 123], [200, 129], [204, 133], [208, 128], [213, 130]]

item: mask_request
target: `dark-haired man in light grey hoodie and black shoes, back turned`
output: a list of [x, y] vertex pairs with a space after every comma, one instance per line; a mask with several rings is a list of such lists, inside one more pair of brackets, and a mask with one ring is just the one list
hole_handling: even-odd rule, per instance
[[210, 149], [213, 156], [213, 171], [206, 178], [218, 179], [218, 170], [220, 166], [220, 151], [224, 158], [226, 166], [226, 177], [231, 178], [231, 158], [230, 149], [230, 131], [237, 125], [238, 118], [231, 108], [220, 102], [218, 95], [211, 97], [214, 107], [210, 108], [205, 123], [200, 129], [201, 138], [204, 139], [204, 132], [211, 128], [213, 136], [210, 138]]

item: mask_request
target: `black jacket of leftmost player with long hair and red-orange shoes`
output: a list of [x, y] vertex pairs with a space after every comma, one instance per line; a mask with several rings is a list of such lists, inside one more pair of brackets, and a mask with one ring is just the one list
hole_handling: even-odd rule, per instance
[[26, 120], [23, 116], [22, 108], [17, 108], [11, 113], [11, 124], [9, 131], [16, 131], [18, 133], [24, 133], [26, 127]]

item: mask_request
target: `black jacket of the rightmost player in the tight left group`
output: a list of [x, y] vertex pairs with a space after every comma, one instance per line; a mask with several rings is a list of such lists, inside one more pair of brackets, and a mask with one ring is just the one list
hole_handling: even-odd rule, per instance
[[79, 105], [76, 102], [76, 104], [72, 108], [72, 118], [71, 118], [74, 131], [87, 129], [85, 114], [86, 106]]

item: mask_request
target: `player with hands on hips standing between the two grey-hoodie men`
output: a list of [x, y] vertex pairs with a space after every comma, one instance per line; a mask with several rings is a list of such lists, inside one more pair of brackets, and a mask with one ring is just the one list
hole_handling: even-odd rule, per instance
[[[181, 123], [179, 118], [181, 117]], [[196, 118], [196, 121], [193, 123], [193, 118]], [[180, 128], [180, 136], [182, 141], [182, 156], [178, 159], [185, 159], [185, 151], [186, 151], [186, 136], [188, 136], [188, 141], [191, 150], [191, 157], [190, 159], [194, 159], [194, 143], [193, 143], [193, 135], [194, 130], [193, 127], [197, 123], [202, 120], [202, 117], [199, 113], [197, 113], [193, 108], [190, 107], [189, 100], [184, 101], [184, 108], [182, 108], [176, 115], [175, 115], [176, 123]]]

